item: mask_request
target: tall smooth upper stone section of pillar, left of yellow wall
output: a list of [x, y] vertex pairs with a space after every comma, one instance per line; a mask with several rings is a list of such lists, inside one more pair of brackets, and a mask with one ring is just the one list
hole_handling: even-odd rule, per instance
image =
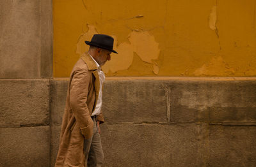
[[0, 1], [0, 78], [52, 76], [52, 1]]

